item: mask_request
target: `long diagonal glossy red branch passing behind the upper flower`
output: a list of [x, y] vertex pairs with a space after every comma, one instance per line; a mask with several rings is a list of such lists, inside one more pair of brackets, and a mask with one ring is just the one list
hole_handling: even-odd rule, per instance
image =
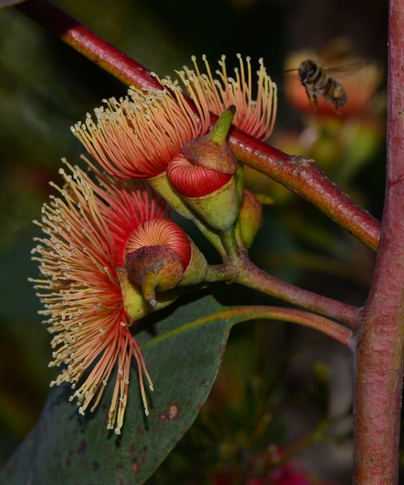
[[[26, 0], [16, 8], [124, 84], [160, 88], [142, 65], [47, 0]], [[211, 116], [216, 121], [216, 115]], [[380, 223], [328, 180], [312, 160], [287, 155], [236, 128], [231, 130], [229, 143], [240, 162], [301, 195], [359, 241], [377, 249]]]

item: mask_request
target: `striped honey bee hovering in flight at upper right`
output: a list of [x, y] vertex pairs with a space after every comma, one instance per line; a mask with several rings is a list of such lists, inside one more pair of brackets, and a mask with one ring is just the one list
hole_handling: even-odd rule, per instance
[[314, 104], [314, 113], [317, 117], [317, 96], [324, 99], [338, 112], [348, 101], [346, 91], [341, 82], [333, 78], [330, 73], [343, 70], [345, 66], [328, 69], [325, 65], [311, 60], [303, 61], [298, 69], [289, 69], [285, 72], [299, 71], [300, 82], [306, 90], [307, 97]]

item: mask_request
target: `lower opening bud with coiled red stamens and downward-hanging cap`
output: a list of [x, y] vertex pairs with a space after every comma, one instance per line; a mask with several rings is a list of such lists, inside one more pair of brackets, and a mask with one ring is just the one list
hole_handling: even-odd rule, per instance
[[200, 283], [207, 263], [186, 233], [167, 219], [140, 224], [127, 242], [127, 272], [146, 301], [157, 307], [156, 291]]

